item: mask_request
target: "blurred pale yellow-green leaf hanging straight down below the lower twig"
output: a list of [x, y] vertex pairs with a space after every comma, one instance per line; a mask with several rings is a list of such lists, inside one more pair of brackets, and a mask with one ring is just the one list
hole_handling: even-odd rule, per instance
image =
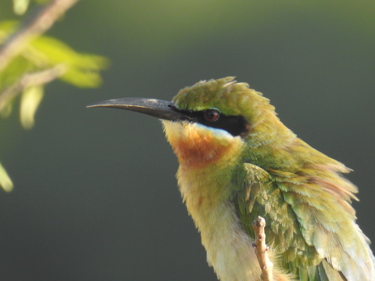
[[34, 116], [44, 96], [43, 86], [27, 87], [21, 95], [21, 106], [19, 115], [21, 124], [25, 129], [34, 126]]

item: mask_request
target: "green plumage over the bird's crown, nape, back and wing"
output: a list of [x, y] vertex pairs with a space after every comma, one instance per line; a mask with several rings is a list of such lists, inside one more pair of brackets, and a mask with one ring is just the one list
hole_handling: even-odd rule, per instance
[[357, 188], [340, 175], [350, 169], [297, 138], [268, 99], [233, 77], [199, 82], [173, 101], [182, 110], [217, 108], [246, 118], [231, 200], [250, 237], [252, 222], [265, 218], [279, 266], [301, 281], [375, 280], [369, 241], [351, 206]]

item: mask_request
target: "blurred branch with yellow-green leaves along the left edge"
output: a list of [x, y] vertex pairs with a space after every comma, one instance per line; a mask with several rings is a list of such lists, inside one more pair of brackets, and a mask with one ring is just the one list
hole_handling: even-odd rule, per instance
[[[29, 1], [13, 0], [15, 12], [23, 13]], [[36, 2], [44, 3], [45, 0]], [[60, 79], [77, 87], [97, 87], [106, 58], [78, 53], [65, 43], [43, 34], [78, 0], [52, 0], [36, 5], [22, 23], [0, 22], [0, 115], [7, 117], [20, 98], [24, 128], [34, 125], [34, 115], [44, 96], [45, 84]], [[11, 191], [13, 183], [0, 164], [0, 186]]]

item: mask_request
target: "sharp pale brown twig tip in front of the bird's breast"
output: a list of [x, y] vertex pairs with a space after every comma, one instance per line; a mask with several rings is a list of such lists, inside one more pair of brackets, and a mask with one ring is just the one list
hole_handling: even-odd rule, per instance
[[266, 234], [264, 228], [266, 221], [262, 216], [258, 216], [257, 220], [252, 223], [252, 228], [255, 231], [255, 243], [253, 244], [256, 258], [258, 259], [259, 266], [261, 266], [262, 281], [272, 281], [273, 263], [268, 258], [268, 246], [266, 245]]

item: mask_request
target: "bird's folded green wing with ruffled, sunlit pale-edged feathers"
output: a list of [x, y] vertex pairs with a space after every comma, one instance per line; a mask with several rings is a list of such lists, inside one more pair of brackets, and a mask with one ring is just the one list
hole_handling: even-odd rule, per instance
[[296, 174], [246, 163], [240, 169], [240, 220], [253, 237], [252, 221], [266, 219], [267, 243], [280, 266], [301, 281], [375, 280], [375, 259], [351, 206], [356, 186], [337, 173], [347, 168], [310, 167]]

